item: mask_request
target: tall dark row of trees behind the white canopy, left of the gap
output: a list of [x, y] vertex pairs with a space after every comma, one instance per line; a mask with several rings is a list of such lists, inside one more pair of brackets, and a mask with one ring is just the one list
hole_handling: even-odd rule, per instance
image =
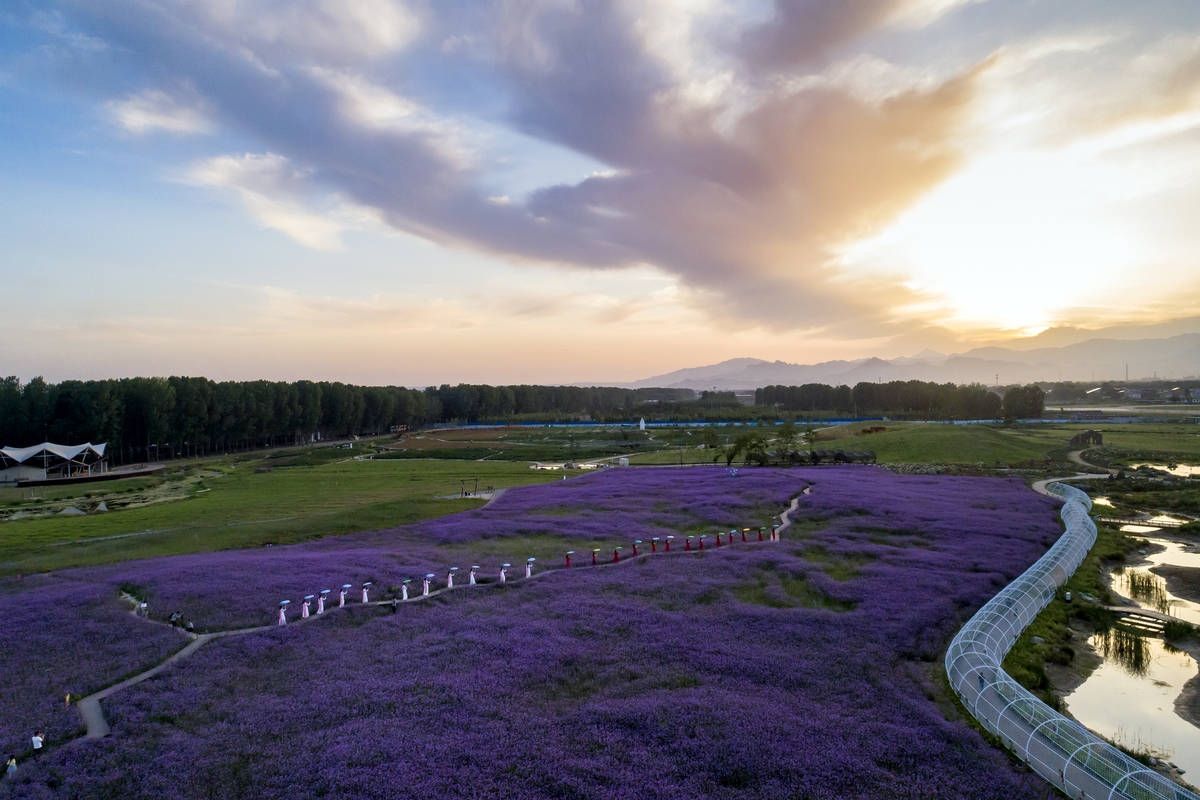
[[208, 456], [313, 439], [388, 433], [395, 426], [520, 416], [628, 416], [686, 389], [486, 386], [427, 389], [208, 378], [0, 380], [0, 445], [108, 443], [112, 463]]

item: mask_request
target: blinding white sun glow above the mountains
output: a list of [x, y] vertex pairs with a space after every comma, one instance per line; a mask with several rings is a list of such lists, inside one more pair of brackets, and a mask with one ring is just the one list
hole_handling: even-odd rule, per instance
[[911, 311], [948, 326], [1038, 331], [1138, 266], [1134, 231], [1105, 207], [1136, 192], [1120, 169], [1062, 154], [986, 156], [842, 259], [906, 276], [926, 299]]

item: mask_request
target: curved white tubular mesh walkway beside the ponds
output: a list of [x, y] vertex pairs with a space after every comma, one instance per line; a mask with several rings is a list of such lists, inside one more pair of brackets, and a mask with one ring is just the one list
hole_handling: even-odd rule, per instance
[[1064, 483], [1046, 488], [1066, 501], [1062, 519], [1067, 533], [954, 637], [946, 654], [950, 685], [980, 724], [1072, 798], [1200, 800], [1200, 795], [1062, 716], [1001, 669], [1016, 637], [1050, 603], [1096, 543], [1087, 494]]

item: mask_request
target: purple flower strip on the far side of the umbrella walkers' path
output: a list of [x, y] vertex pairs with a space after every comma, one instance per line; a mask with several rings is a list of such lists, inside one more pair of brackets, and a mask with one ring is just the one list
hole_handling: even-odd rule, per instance
[[[688, 528], [708, 534], [733, 525], [770, 523], [806, 483], [797, 474], [762, 470], [731, 479], [724, 469], [612, 470], [570, 481], [509, 489], [486, 509], [442, 517], [383, 531], [335, 536], [286, 547], [259, 547], [197, 555], [71, 570], [72, 577], [104, 583], [116, 590], [124, 582], [145, 588], [151, 609], [162, 619], [179, 610], [197, 630], [268, 625], [277, 603], [299, 601], [322, 589], [354, 584], [350, 597], [361, 599], [360, 584], [373, 581], [376, 597], [404, 578], [427, 572], [444, 585], [449, 566], [485, 566], [494, 576], [502, 561], [523, 561], [522, 540], [540, 537], [558, 542], [552, 560], [538, 565], [560, 566], [562, 554], [575, 542], [607, 540], [626, 553], [634, 540], [678, 535]], [[539, 511], [570, 511], [570, 516]], [[682, 542], [679, 545], [682, 547]], [[548, 545], [544, 546], [548, 547]], [[478, 555], [491, 551], [488, 563]], [[612, 551], [606, 551], [611, 560]], [[503, 555], [502, 555], [503, 554]], [[550, 552], [547, 551], [546, 555]], [[472, 560], [473, 558], [481, 560]], [[590, 563], [580, 553], [576, 563]], [[523, 572], [521, 573], [523, 575]], [[517, 576], [511, 571], [510, 577]], [[466, 582], [466, 576], [461, 576]], [[335, 595], [336, 602], [336, 595]]]

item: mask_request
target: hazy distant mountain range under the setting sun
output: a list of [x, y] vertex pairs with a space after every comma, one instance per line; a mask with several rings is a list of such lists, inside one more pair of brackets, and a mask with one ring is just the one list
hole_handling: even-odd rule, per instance
[[[1146, 329], [1128, 329], [1129, 332]], [[1056, 332], [1051, 332], [1056, 331]], [[1098, 331], [1051, 329], [1037, 339], [1063, 342]], [[1108, 329], [1105, 333], [1116, 332]], [[1121, 331], [1124, 333], [1126, 331]], [[1048, 336], [1049, 335], [1049, 336]], [[626, 384], [630, 387], [664, 386], [737, 390], [802, 384], [846, 384], [860, 381], [931, 380], [954, 384], [1027, 384], [1038, 380], [1130, 380], [1188, 378], [1200, 374], [1200, 333], [1166, 338], [1084, 338], [1061, 347], [980, 347], [944, 355], [932, 350], [900, 359], [859, 359], [800, 365], [762, 359], [730, 359], [708, 367], [677, 369]], [[998, 375], [998, 378], [997, 378]]]

